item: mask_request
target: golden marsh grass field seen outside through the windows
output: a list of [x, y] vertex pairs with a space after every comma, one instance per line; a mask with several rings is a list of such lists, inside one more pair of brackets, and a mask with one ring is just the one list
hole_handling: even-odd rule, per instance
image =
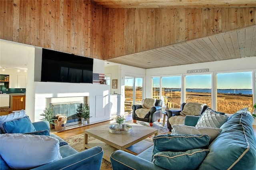
[[[153, 93], [153, 96], [157, 96]], [[180, 92], [163, 92], [162, 96], [166, 96], [168, 100], [175, 103], [174, 108], [180, 108]], [[132, 90], [125, 89], [125, 100], [132, 101]], [[186, 102], [205, 103], [211, 106], [211, 94], [201, 92], [186, 92]], [[142, 91], [136, 90], [136, 101], [142, 101]], [[217, 94], [218, 111], [224, 113], [236, 113], [236, 111], [248, 107], [249, 111], [253, 111], [252, 95], [246, 94]]]

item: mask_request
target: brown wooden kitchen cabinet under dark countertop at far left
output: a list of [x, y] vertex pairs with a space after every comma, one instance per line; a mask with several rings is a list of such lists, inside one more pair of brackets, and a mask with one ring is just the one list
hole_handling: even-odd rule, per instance
[[14, 110], [25, 109], [26, 95], [11, 95], [11, 108]]

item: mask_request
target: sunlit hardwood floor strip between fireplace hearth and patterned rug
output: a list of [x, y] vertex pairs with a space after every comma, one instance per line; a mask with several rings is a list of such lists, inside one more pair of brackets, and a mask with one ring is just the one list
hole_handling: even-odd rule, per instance
[[[132, 113], [124, 114], [124, 117], [125, 117], [126, 121], [132, 120]], [[71, 136], [74, 136], [74, 135], [84, 133], [85, 129], [90, 129], [90, 128], [93, 128], [93, 127], [106, 125], [106, 124], [109, 124], [109, 123], [114, 123], [115, 121], [116, 120], [115, 120], [115, 117], [114, 117], [113, 120], [104, 121], [104, 122], [96, 123], [96, 124], [92, 124], [92, 125], [86, 125], [86, 126], [82, 126], [82, 127], [77, 127], [77, 128], [69, 129], [69, 130], [66, 130], [66, 131], [51, 130], [51, 133], [54, 133], [54, 134], [58, 135], [61, 138], [67, 138], [67, 137], [71, 137]]]

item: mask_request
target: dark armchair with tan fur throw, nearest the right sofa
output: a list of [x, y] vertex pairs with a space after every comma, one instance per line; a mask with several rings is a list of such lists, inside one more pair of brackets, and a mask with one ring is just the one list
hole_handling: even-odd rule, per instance
[[207, 108], [206, 104], [188, 102], [183, 103], [180, 106], [180, 110], [166, 110], [169, 131], [172, 131], [172, 125], [174, 124], [184, 125], [186, 115], [200, 116]]

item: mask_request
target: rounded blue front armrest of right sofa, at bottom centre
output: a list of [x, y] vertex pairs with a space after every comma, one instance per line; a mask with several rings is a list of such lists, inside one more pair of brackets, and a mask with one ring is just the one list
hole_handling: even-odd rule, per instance
[[113, 152], [110, 156], [110, 161], [113, 170], [164, 170], [164, 168], [161, 168], [152, 162], [123, 150], [116, 150]]

